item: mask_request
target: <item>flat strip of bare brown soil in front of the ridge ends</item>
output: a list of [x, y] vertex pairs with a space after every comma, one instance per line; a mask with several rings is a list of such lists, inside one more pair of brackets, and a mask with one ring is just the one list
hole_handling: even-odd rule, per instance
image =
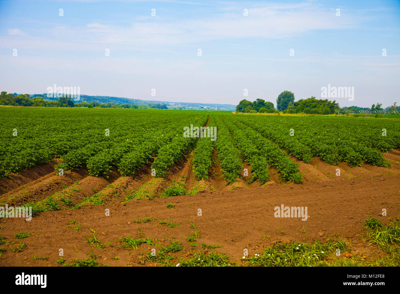
[[[118, 247], [118, 239], [134, 236], [138, 229], [149, 238], [165, 240], [175, 236], [186, 248], [185, 238], [192, 230], [187, 224], [189, 218], [201, 231], [197, 242], [222, 245], [216, 252], [229, 254], [232, 260], [239, 261], [243, 249], [249, 254], [260, 253], [262, 248], [278, 242], [302, 242], [315, 239], [325, 241], [328, 237], [340, 235], [347, 242], [360, 244], [359, 234], [363, 232], [364, 222], [370, 216], [388, 222], [400, 215], [399, 176], [364, 177], [348, 181], [305, 182], [299, 185], [268, 185], [257, 188], [242, 188], [226, 192], [204, 192], [196, 195], [176, 196], [174, 198], [154, 198], [153, 200], [136, 200], [125, 203], [86, 206], [81, 209], [44, 212], [35, 216], [32, 221], [20, 218], [1, 219], [2, 235], [6, 240], [23, 241], [26, 250], [18, 253], [7, 249], [0, 257], [2, 266], [57, 266], [59, 248], [64, 249], [64, 258], [84, 259], [90, 252], [90, 246], [84, 236], [91, 236], [96, 231], [103, 243], [111, 246], [94, 249], [101, 255], [98, 261], [109, 265], [142, 265], [138, 256], [147, 253], [150, 246], [142, 245], [138, 249], [124, 250]], [[377, 190], [376, 187], [385, 186]], [[175, 204], [174, 210], [166, 204]], [[300, 218], [275, 218], [274, 207], [307, 206], [308, 220]], [[105, 216], [105, 209], [110, 209], [110, 216]], [[197, 216], [198, 208], [202, 216]], [[380, 216], [386, 208], [388, 216]], [[170, 218], [181, 223], [176, 229], [166, 227], [154, 221], [137, 224], [135, 218], [153, 216], [156, 220]], [[67, 228], [69, 220], [82, 224], [81, 231]], [[304, 229], [303, 229], [304, 226]], [[75, 227], [75, 226], [73, 226]], [[278, 229], [282, 229], [285, 235]], [[14, 239], [19, 232], [31, 232], [23, 240]], [[40, 234], [40, 235], [38, 235]], [[322, 236], [321, 236], [322, 235]], [[154, 247], [154, 246], [153, 246]], [[360, 248], [370, 256], [374, 247]], [[78, 251], [75, 252], [74, 249]], [[186, 251], [185, 251], [186, 252]], [[187, 253], [187, 252], [186, 252]], [[34, 261], [32, 255], [49, 256], [47, 260]], [[119, 256], [119, 260], [113, 260]], [[151, 265], [150, 262], [144, 264]]]

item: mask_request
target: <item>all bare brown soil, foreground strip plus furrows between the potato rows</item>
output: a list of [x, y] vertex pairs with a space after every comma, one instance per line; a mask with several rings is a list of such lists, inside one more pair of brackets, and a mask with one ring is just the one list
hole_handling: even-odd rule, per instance
[[[193, 251], [186, 240], [188, 234], [194, 231], [190, 222], [196, 224], [196, 230], [201, 232], [200, 239], [196, 239], [198, 244], [204, 242], [208, 245], [220, 245], [221, 248], [216, 248], [216, 252], [228, 254], [231, 260], [239, 263], [244, 248], [248, 249], [249, 255], [254, 255], [260, 254], [263, 248], [275, 242], [323, 242], [336, 236], [350, 242], [356, 254], [379, 256], [382, 254], [379, 249], [366, 246], [362, 240], [365, 220], [374, 216], [388, 223], [391, 218], [400, 216], [400, 153], [393, 150], [384, 156], [392, 160], [392, 168], [367, 164], [350, 168], [346, 163], [331, 166], [318, 158], [313, 158], [310, 164], [305, 164], [292, 158], [300, 164], [304, 176], [301, 184], [281, 182], [277, 174], [272, 174], [274, 170], [271, 169], [272, 180], [264, 185], [248, 185], [246, 179], [238, 178], [237, 182], [229, 186], [220, 178], [221, 171], [217, 160], [208, 182], [212, 190], [207, 189], [194, 195], [156, 197], [152, 200], [133, 199], [129, 202], [121, 202], [122, 198], [118, 196], [110, 204], [42, 212], [31, 221], [22, 218], [1, 218], [0, 234], [5, 237], [4, 240], [16, 244], [24, 242], [26, 248], [20, 252], [13, 252], [11, 248], [16, 245], [7, 246], [0, 256], [0, 266], [59, 266], [57, 260], [60, 258], [60, 249], [64, 251], [63, 257], [67, 262], [71, 262], [72, 258], [90, 258], [90, 248], [97, 255], [96, 261], [100, 264], [153, 266], [152, 262], [143, 262], [140, 257], [148, 254], [154, 246], [142, 244], [133, 250], [119, 246], [120, 238], [138, 238], [138, 233], [142, 238], [157, 238], [163, 246], [169, 244], [168, 239], [174, 237], [185, 247], [180, 256], [190, 258]], [[190, 190], [198, 183], [192, 174], [190, 158], [188, 156], [188, 160], [179, 162], [169, 172], [164, 186], [168, 186], [174, 180], [184, 179], [186, 190]], [[244, 163], [244, 168], [250, 170], [251, 167]], [[340, 176], [336, 176], [337, 169], [341, 171]], [[88, 178], [86, 174], [77, 174], [76, 177], [78, 176]], [[26, 174], [24, 177], [28, 178]], [[37, 186], [46, 186], [35, 181], [42, 177], [42, 181], [48, 182], [54, 177], [54, 170], [49, 171], [49, 176], [38, 174], [35, 177], [31, 183], [25, 180], [14, 185], [4, 182], [3, 178], [0, 186], [5, 187], [8, 183], [12, 190], [2, 197], [15, 195], [26, 186], [32, 187], [34, 194], [38, 195]], [[133, 177], [121, 178], [116, 174], [111, 180], [105, 181], [100, 178], [98, 189], [90, 193], [88, 190], [88, 195], [99, 191], [100, 186], [105, 188], [108, 182], [113, 181], [113, 186], [106, 188], [110, 190], [110, 195], [117, 192], [126, 195], [150, 179], [152, 177], [145, 170], [139, 171]], [[104, 185], [100, 185], [103, 181]], [[118, 190], [119, 187], [121, 190]], [[51, 188], [46, 189], [46, 195], [53, 192]], [[166, 207], [169, 203], [175, 205], [174, 209]], [[307, 220], [276, 218], [274, 208], [282, 204], [306, 206]], [[198, 215], [199, 209], [202, 212], [201, 216]], [[382, 216], [382, 209], [386, 209], [387, 216]], [[106, 216], [108, 210], [110, 216]], [[154, 221], [135, 221], [146, 217], [152, 217]], [[166, 224], [159, 224], [158, 220], [169, 222], [168, 218], [180, 225], [170, 228]], [[76, 220], [76, 223], [72, 220]], [[82, 226], [80, 230], [76, 229], [78, 225]], [[20, 231], [32, 234], [24, 239], [14, 238]], [[91, 237], [93, 231], [100, 242], [111, 244], [104, 249], [91, 246], [85, 237]], [[210, 251], [208, 249], [208, 252]], [[45, 260], [34, 260], [34, 256], [48, 257]], [[113, 259], [114, 256], [118, 256], [119, 259]]]

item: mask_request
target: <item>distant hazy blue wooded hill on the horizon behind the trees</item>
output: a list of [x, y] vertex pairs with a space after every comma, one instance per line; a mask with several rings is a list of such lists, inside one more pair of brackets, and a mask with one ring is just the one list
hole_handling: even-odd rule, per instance
[[[44, 100], [53, 100], [57, 101], [58, 98], [48, 98], [46, 94], [33, 94], [31, 97], [41, 96]], [[98, 102], [98, 103], [129, 103], [129, 104], [137, 104], [137, 105], [147, 105], [147, 104], [166, 104], [168, 108], [196, 108], [196, 109], [214, 109], [218, 110], [236, 110], [236, 105], [232, 104], [212, 104], [212, 103], [196, 103], [196, 102], [170, 102], [170, 101], [160, 101], [160, 100], [140, 100], [140, 99], [131, 99], [131, 98], [122, 98], [122, 97], [114, 97], [114, 96], [89, 96], [89, 95], [80, 95], [79, 102]], [[77, 103], [79, 103], [77, 102]]]

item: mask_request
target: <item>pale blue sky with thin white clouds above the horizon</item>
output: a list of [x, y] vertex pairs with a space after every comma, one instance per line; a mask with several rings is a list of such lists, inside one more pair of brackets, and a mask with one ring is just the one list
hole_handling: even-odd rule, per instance
[[330, 85], [354, 89], [328, 98], [341, 107], [385, 108], [399, 45], [399, 0], [0, 0], [0, 91], [276, 106]]

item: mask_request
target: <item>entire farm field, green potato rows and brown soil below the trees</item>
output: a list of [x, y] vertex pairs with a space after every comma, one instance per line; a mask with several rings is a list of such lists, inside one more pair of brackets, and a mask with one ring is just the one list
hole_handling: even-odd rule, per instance
[[1, 107], [0, 265], [398, 266], [399, 162], [398, 119]]

